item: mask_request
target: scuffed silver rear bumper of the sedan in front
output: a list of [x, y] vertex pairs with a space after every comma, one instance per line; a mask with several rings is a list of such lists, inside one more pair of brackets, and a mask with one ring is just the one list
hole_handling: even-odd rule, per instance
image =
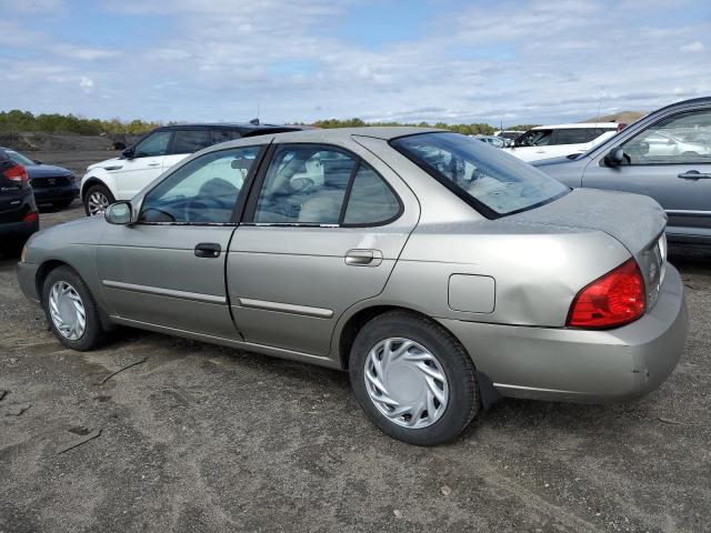
[[677, 365], [688, 330], [683, 284], [671, 265], [652, 310], [614, 330], [440, 322], [501, 395], [583, 403], [657, 389]]

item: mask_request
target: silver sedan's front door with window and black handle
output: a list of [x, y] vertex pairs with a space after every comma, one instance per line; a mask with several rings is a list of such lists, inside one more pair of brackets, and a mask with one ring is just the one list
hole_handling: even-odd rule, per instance
[[113, 314], [220, 338], [238, 335], [224, 265], [234, 209], [261, 151], [232, 148], [193, 159], [144, 195], [137, 223], [108, 227], [97, 259]]

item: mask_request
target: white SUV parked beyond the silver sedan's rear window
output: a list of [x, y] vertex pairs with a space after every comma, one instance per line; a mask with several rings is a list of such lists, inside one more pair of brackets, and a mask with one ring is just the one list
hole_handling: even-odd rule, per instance
[[625, 125], [619, 122], [539, 125], [519, 137], [505, 151], [529, 162], [583, 153]]

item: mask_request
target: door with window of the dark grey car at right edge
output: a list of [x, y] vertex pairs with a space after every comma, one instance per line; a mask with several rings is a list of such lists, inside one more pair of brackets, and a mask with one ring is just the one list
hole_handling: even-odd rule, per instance
[[711, 110], [664, 117], [621, 147], [624, 164], [599, 154], [582, 185], [647, 194], [667, 211], [669, 234], [711, 237]]

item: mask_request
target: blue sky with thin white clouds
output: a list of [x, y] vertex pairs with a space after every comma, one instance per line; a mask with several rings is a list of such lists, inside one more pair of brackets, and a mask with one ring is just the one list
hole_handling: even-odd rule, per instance
[[709, 0], [0, 0], [0, 110], [505, 127], [701, 95]]

